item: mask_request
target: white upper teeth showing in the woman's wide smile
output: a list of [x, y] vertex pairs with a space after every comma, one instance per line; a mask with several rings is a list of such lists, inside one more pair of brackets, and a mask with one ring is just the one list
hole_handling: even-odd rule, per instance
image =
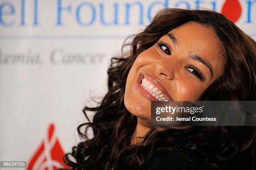
[[150, 94], [152, 94], [152, 96], [156, 97], [156, 99], [158, 99], [160, 101], [168, 101], [169, 102], [169, 100], [166, 100], [165, 97], [163, 97], [164, 95], [161, 94], [161, 91], [158, 91], [158, 88], [154, 87], [154, 85], [151, 84], [145, 77], [142, 80], [141, 86], [145, 90], [150, 92]]

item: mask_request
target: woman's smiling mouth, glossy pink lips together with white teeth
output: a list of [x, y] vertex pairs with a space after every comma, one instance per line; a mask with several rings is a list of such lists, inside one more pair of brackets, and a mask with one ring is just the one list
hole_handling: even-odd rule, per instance
[[[144, 79], [144, 77], [146, 79]], [[144, 79], [144, 80], [143, 80]], [[143, 80], [143, 86], [141, 81]], [[138, 93], [150, 101], [173, 101], [167, 90], [161, 84], [160, 80], [149, 73], [142, 73], [135, 85]], [[145, 89], [146, 88], [146, 89]], [[160, 100], [159, 100], [160, 99]]]

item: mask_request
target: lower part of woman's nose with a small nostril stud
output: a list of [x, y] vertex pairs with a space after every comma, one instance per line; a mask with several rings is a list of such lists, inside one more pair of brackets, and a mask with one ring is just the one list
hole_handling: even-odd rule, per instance
[[156, 72], [163, 78], [167, 78], [168, 80], [173, 80], [175, 73], [174, 68], [169, 64], [163, 63], [166, 61], [157, 62], [155, 64]]

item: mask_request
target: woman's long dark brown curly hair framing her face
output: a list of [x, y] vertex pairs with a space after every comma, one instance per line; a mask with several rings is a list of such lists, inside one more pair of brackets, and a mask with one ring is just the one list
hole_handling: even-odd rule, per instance
[[[88, 122], [77, 128], [84, 139], [64, 155], [74, 170], [143, 169], [155, 154], [191, 151], [210, 169], [246, 169], [256, 166], [255, 126], [155, 126], [140, 143], [130, 145], [137, 117], [125, 108], [128, 72], [136, 57], [160, 37], [194, 21], [212, 28], [222, 43], [224, 72], [200, 96], [200, 100], [256, 99], [256, 42], [220, 13], [210, 10], [164, 9], [140, 33], [127, 39], [128, 55], [113, 57], [108, 68], [108, 92], [97, 107], [84, 107]], [[127, 54], [127, 53], [126, 53]], [[90, 122], [87, 111], [94, 111]], [[88, 137], [92, 128], [93, 137]]]

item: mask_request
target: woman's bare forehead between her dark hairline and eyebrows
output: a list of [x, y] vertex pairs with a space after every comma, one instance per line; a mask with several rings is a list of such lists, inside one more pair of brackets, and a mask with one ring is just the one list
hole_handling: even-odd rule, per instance
[[[221, 43], [211, 28], [200, 23], [185, 23], [169, 33], [177, 39], [179, 54], [195, 53], [212, 65], [214, 77], [221, 75], [223, 70], [223, 57], [221, 57]], [[167, 36], [165, 36], [167, 37]], [[168, 38], [168, 37], [167, 37]]]

